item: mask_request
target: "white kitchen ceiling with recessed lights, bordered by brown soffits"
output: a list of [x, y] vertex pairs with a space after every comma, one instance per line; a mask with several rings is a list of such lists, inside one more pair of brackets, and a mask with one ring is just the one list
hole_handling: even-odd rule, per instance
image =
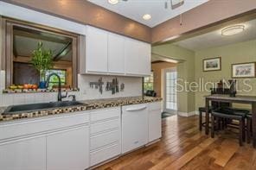
[[[143, 23], [150, 28], [157, 26], [175, 16], [193, 9], [208, 0], [184, 0], [184, 4], [176, 9], [170, 8], [170, 0], [119, 0], [117, 4], [108, 3], [107, 0], [88, 0], [101, 7], [112, 10], [122, 16], [126, 16], [137, 22]], [[164, 8], [164, 3], [168, 2], [168, 9]], [[151, 19], [145, 21], [142, 16], [150, 14]]]

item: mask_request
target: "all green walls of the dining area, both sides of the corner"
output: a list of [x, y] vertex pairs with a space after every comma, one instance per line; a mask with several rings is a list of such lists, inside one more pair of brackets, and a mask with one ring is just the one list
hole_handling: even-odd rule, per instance
[[[199, 82], [199, 79], [204, 79], [204, 82], [219, 82], [221, 79], [231, 79], [232, 64], [256, 61], [256, 40], [195, 52], [173, 44], [165, 44], [152, 47], [152, 53], [167, 55], [177, 60], [185, 60], [177, 65], [178, 77], [181, 79], [186, 79], [188, 82]], [[214, 57], [221, 57], [221, 71], [203, 72], [202, 60]], [[243, 79], [237, 80], [240, 89], [243, 88], [244, 86], [241, 83]], [[250, 80], [253, 91], [238, 92], [238, 94], [256, 96], [256, 79]], [[204, 106], [204, 96], [209, 93], [209, 91], [178, 92], [178, 111], [188, 113]], [[235, 106], [247, 107], [247, 105], [241, 104], [235, 104]]]

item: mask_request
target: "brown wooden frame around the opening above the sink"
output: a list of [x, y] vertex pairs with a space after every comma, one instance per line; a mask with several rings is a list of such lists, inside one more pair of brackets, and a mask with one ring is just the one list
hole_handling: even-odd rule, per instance
[[[72, 60], [72, 87], [78, 87], [77, 77], [79, 71], [79, 36], [75, 35], [74, 33], [70, 33], [67, 31], [63, 31], [57, 28], [50, 28], [47, 26], [31, 23], [31, 22], [23, 22], [14, 19], [10, 19], [7, 17], [2, 17], [2, 70], [5, 70], [5, 85], [6, 87], [13, 84], [13, 27], [22, 27], [22, 28], [29, 28], [34, 29], [37, 31], [42, 31], [45, 33], [50, 33], [54, 35], [61, 35], [66, 36], [72, 39], [72, 53], [73, 53], [73, 60]], [[5, 57], [4, 57], [5, 56]]]

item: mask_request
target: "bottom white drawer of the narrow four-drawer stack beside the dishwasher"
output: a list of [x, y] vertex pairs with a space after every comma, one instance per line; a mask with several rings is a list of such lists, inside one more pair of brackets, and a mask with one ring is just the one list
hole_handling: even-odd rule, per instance
[[119, 143], [114, 143], [111, 146], [102, 148], [90, 154], [90, 166], [99, 164], [100, 162], [107, 161], [121, 153]]

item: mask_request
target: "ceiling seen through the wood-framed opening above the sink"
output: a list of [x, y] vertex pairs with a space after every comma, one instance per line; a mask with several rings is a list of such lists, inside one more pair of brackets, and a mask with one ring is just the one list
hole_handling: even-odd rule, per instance
[[72, 61], [72, 39], [29, 28], [14, 27], [15, 56], [31, 57], [39, 41], [42, 41], [44, 49], [52, 50], [54, 61]]

